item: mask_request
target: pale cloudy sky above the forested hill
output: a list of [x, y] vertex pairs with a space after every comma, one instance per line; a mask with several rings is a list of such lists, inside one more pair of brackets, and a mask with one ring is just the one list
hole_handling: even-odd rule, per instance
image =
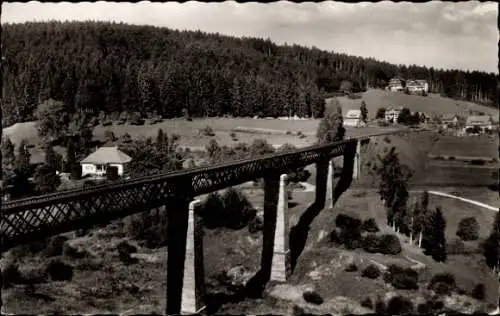
[[271, 38], [398, 64], [498, 72], [498, 4], [3, 3], [2, 23], [123, 21]]

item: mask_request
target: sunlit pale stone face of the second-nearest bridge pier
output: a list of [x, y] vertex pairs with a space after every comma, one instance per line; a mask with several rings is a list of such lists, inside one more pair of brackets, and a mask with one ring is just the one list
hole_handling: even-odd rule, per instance
[[290, 276], [287, 175], [280, 176], [271, 280], [285, 282]]

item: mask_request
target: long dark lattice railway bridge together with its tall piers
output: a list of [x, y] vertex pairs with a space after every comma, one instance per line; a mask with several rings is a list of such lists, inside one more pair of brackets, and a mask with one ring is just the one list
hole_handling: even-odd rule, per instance
[[[1, 210], [1, 250], [5, 252], [18, 245], [77, 229], [90, 228], [134, 213], [166, 206], [169, 223], [166, 311], [167, 314], [178, 314], [181, 311], [182, 301], [183, 309], [192, 309], [193, 312], [200, 307], [199, 299], [196, 298], [201, 295], [200, 284], [203, 283], [199, 281], [200, 278], [203, 279], [203, 276], [198, 276], [199, 273], [203, 275], [203, 269], [201, 268], [200, 272], [200, 268], [195, 268], [199, 267], [199, 259], [196, 257], [199, 257], [201, 252], [199, 248], [202, 247], [197, 241], [199, 240], [199, 237], [196, 237], [198, 234], [192, 233], [193, 227], [195, 231], [199, 230], [196, 228], [199, 227], [198, 221], [195, 220], [193, 224], [191, 218], [194, 213], [193, 209], [199, 204], [193, 203], [196, 196], [264, 178], [264, 245], [261, 270], [264, 266], [268, 266], [266, 270], [269, 271], [262, 273], [264, 278], [267, 275], [269, 279], [270, 267], [275, 265], [274, 261], [279, 257], [275, 249], [273, 259], [275, 235], [277, 230], [282, 229], [282, 225], [279, 224], [279, 215], [278, 224], [276, 221], [277, 213], [280, 213], [280, 205], [283, 204], [281, 195], [284, 193], [281, 192], [282, 188], [280, 190], [281, 175], [315, 163], [317, 168], [315, 203], [319, 203], [324, 208], [326, 202], [334, 199], [331, 184], [333, 183], [332, 158], [344, 157], [339, 185], [347, 181], [348, 187], [352, 178], [356, 178], [359, 173], [361, 147], [368, 144], [370, 138], [422, 131], [425, 130], [403, 129], [353, 137], [328, 145], [313, 145], [256, 159], [237, 160], [210, 167], [145, 176], [113, 184], [9, 201], [3, 203]], [[282, 176], [281, 182], [283, 182]], [[191, 259], [191, 257], [195, 258]], [[191, 261], [194, 265], [190, 263]], [[190, 264], [191, 267], [189, 267]], [[191, 297], [188, 293], [189, 289], [186, 289], [190, 287], [186, 285], [189, 281], [184, 278], [186, 273], [191, 277], [196, 275], [194, 279], [197, 279], [192, 286], [191, 296], [195, 297], [192, 304], [189, 303], [192, 301], [189, 298]], [[188, 279], [192, 279], [191, 277]], [[192, 306], [186, 307], [186, 304]]]

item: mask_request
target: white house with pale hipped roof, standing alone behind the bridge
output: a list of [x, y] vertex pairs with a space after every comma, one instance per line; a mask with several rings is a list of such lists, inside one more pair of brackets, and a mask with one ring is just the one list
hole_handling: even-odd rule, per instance
[[101, 147], [80, 161], [82, 177], [86, 175], [104, 176], [108, 166], [117, 167], [118, 175], [122, 176], [125, 165], [130, 161], [132, 161], [132, 158], [120, 151], [116, 146]]

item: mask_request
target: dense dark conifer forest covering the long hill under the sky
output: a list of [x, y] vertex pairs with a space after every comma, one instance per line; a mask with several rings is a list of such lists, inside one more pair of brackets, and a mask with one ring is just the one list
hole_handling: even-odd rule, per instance
[[393, 65], [269, 39], [104, 22], [2, 25], [3, 124], [48, 99], [67, 113], [142, 117], [322, 117], [324, 97], [384, 88], [394, 76], [430, 92], [497, 104], [494, 74]]

